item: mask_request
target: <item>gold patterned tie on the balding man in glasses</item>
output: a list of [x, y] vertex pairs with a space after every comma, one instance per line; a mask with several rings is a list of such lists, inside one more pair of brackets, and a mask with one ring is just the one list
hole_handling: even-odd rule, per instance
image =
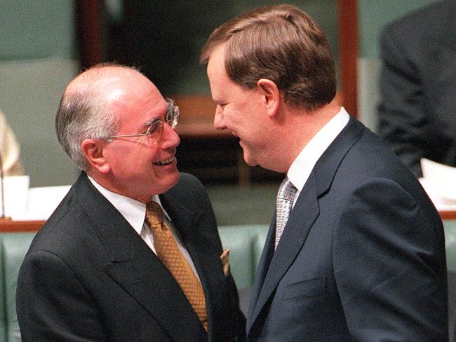
[[154, 236], [154, 247], [157, 257], [168, 268], [180, 288], [187, 296], [190, 304], [198, 315], [204, 329], [208, 331], [208, 314], [203, 287], [196, 278], [189, 261], [180, 252], [173, 234], [163, 220], [163, 212], [156, 202], [149, 202], [146, 208], [146, 221]]

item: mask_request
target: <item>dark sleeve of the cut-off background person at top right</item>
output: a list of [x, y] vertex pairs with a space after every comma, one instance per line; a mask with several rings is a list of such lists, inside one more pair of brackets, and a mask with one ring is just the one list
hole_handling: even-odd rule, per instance
[[412, 37], [401, 26], [382, 32], [380, 71], [380, 135], [415, 176], [421, 176], [427, 134], [426, 98], [420, 70], [407, 43]]

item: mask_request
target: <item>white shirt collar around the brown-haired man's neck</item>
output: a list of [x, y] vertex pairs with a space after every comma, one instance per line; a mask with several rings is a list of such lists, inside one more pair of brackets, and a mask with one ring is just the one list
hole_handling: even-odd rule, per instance
[[341, 107], [340, 111], [312, 137], [293, 161], [287, 172], [287, 177], [299, 192], [304, 188], [304, 184], [306, 184], [318, 159], [344, 129], [349, 118], [347, 111]]

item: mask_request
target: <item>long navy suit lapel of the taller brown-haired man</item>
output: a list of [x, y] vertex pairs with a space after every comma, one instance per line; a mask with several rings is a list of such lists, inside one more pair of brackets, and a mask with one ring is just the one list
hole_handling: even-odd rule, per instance
[[249, 308], [247, 331], [253, 327], [261, 310], [274, 293], [277, 285], [295, 260], [311, 230], [318, 214], [318, 198], [330, 189], [337, 167], [366, 130], [364, 125], [350, 118], [347, 126], [318, 159], [307, 179], [295, 207], [288, 218], [281, 240], [274, 252], [275, 215], [264, 247], [258, 276], [255, 280], [252, 303]]

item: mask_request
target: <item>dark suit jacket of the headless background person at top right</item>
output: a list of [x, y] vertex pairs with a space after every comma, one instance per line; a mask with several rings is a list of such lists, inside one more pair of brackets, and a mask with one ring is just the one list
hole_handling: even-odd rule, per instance
[[382, 32], [380, 134], [420, 177], [420, 158], [456, 166], [456, 1]]

